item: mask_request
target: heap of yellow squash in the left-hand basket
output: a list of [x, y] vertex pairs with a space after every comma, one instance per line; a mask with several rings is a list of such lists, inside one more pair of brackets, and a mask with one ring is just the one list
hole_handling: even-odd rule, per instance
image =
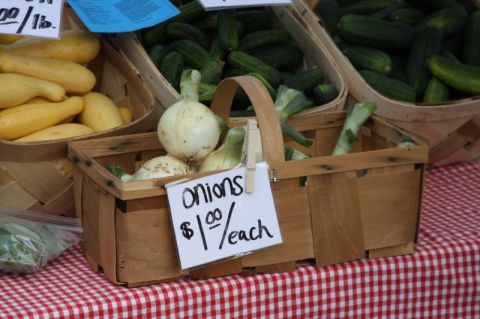
[[99, 37], [81, 30], [64, 31], [60, 40], [16, 37], [1, 45], [0, 138], [56, 140], [132, 121], [128, 107], [92, 91], [97, 79], [85, 65], [100, 48]]

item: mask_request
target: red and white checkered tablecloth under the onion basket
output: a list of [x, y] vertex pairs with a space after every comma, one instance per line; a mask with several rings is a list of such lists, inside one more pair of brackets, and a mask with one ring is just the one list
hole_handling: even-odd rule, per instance
[[74, 247], [0, 276], [0, 318], [480, 318], [480, 164], [427, 172], [411, 256], [124, 288]]

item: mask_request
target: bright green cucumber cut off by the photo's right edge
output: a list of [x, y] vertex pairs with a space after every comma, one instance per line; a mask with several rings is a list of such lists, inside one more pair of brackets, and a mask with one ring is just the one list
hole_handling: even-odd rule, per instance
[[441, 55], [427, 60], [434, 76], [462, 92], [480, 94], [480, 67], [451, 61]]

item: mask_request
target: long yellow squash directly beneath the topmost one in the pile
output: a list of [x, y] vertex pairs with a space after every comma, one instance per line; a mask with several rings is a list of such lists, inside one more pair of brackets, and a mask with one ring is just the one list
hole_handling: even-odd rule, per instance
[[0, 53], [0, 71], [20, 73], [61, 85], [67, 93], [83, 94], [95, 85], [95, 74], [75, 62]]

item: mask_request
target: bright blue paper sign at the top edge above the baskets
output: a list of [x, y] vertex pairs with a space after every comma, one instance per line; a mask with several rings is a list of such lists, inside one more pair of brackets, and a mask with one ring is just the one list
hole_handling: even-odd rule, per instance
[[91, 32], [131, 32], [168, 20], [180, 11], [168, 0], [68, 0]]

